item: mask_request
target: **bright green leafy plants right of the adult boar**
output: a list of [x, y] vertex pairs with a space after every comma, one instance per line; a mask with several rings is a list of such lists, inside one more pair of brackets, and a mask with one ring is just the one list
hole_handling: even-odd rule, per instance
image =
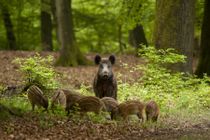
[[141, 70], [144, 74], [134, 84], [119, 84], [120, 101], [136, 98], [155, 100], [163, 114], [173, 110], [196, 111], [210, 107], [208, 77], [198, 79], [167, 69], [168, 64], [184, 62], [184, 56], [174, 53], [173, 49], [156, 50], [153, 47], [143, 48], [140, 52], [146, 62], [134, 70]]

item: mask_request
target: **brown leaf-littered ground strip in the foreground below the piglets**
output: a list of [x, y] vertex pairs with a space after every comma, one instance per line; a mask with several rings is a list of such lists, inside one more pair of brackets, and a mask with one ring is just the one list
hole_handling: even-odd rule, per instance
[[0, 121], [1, 140], [209, 140], [210, 125], [144, 127], [141, 123], [68, 120], [46, 114], [26, 113]]

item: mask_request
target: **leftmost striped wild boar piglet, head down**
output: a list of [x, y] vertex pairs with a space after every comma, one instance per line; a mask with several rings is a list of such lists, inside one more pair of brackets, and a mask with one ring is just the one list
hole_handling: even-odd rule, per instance
[[35, 85], [32, 85], [27, 90], [28, 99], [31, 103], [32, 110], [34, 111], [35, 105], [40, 107], [42, 106], [47, 111], [48, 108], [48, 99], [44, 97], [43, 92], [40, 88]]

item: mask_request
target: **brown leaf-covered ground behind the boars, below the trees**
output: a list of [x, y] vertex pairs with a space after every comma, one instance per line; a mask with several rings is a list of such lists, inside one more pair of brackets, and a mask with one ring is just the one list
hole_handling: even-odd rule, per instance
[[[40, 52], [41, 56], [53, 55], [56, 59], [58, 54], [49, 52]], [[12, 63], [17, 58], [27, 58], [35, 55], [35, 52], [25, 51], [0, 51], [0, 84], [5, 86], [21, 85], [23, 78], [18, 72], [18, 66]], [[90, 61], [94, 61], [95, 54], [86, 55]], [[102, 55], [108, 57], [109, 55]], [[116, 57], [116, 64], [113, 71], [116, 76], [122, 75], [123, 82], [130, 82], [137, 80], [141, 74], [140, 72], [130, 72], [130, 68], [136, 64], [141, 64], [142, 59], [136, 58], [132, 55], [120, 55]], [[125, 65], [128, 65], [126, 68]], [[55, 67], [56, 71], [63, 75], [61, 82], [64, 86], [79, 88], [81, 84], [92, 86], [93, 78], [97, 72], [97, 66], [78, 66], [78, 67]], [[119, 74], [120, 73], [120, 74]]]

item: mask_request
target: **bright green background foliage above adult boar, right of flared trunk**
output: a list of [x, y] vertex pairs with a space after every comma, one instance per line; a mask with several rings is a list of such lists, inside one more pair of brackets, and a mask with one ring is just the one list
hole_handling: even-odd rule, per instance
[[118, 0], [72, 1], [77, 41], [83, 52], [105, 53], [119, 49], [116, 18], [119, 5]]

